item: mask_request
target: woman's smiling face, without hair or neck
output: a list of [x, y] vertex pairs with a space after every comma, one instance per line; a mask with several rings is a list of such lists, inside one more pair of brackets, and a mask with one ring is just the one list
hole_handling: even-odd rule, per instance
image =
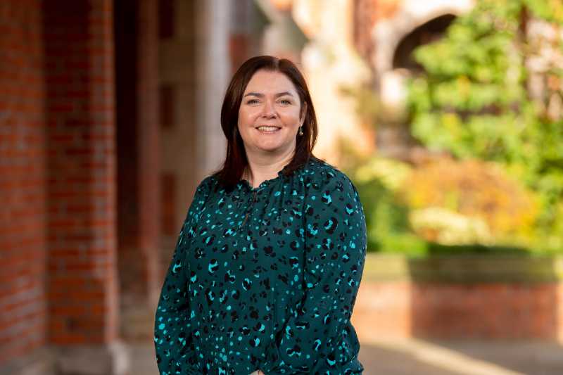
[[286, 75], [269, 70], [254, 73], [239, 108], [238, 127], [247, 155], [292, 153], [304, 119], [296, 88]]

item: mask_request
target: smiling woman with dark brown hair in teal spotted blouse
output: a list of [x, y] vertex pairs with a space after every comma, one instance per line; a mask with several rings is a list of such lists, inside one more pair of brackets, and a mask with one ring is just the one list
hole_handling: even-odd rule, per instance
[[221, 125], [227, 158], [196, 189], [156, 310], [160, 374], [362, 374], [365, 217], [350, 179], [312, 155], [301, 72], [249, 59]]

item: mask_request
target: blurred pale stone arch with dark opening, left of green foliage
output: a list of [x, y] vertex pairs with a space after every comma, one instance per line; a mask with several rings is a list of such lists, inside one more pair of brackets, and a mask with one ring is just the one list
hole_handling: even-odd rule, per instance
[[469, 0], [407, 0], [389, 18], [372, 27], [370, 56], [374, 89], [381, 103], [377, 149], [382, 155], [412, 160], [417, 145], [410, 135], [405, 108], [406, 80], [422, 70], [412, 58], [417, 46], [439, 39], [455, 17], [472, 8]]

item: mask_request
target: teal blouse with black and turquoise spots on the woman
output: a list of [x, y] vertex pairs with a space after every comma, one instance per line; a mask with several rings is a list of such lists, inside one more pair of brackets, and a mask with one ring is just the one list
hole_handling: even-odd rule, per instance
[[323, 160], [230, 192], [206, 177], [156, 309], [160, 374], [362, 374], [365, 252], [358, 191]]

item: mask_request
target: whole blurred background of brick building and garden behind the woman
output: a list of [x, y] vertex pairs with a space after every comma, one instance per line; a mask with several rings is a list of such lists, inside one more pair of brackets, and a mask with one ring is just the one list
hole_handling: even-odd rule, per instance
[[258, 54], [301, 68], [315, 155], [360, 192], [365, 374], [563, 374], [561, 0], [1, 1], [0, 374], [158, 373]]

